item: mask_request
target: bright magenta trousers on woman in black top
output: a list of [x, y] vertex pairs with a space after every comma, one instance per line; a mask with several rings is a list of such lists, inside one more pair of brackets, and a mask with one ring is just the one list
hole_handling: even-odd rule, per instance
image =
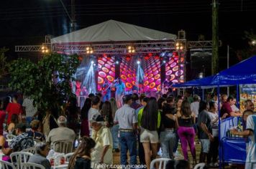
[[188, 145], [191, 148], [191, 154], [193, 158], [196, 158], [195, 142], [195, 130], [193, 127], [178, 127], [178, 136], [180, 137], [180, 143], [184, 160], [188, 160]]

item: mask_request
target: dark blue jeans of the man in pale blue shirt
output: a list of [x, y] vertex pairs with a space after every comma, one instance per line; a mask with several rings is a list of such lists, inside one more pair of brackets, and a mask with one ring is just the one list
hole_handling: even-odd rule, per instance
[[119, 137], [121, 147], [121, 164], [127, 165], [127, 150], [129, 150], [130, 165], [137, 164], [137, 139], [134, 132], [121, 132]]

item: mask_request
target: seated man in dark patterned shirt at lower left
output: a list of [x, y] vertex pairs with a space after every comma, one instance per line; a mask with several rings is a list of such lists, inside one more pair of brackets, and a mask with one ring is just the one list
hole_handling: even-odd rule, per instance
[[34, 146], [34, 140], [26, 132], [26, 124], [19, 123], [15, 127], [16, 137], [14, 137], [9, 144], [9, 148], [2, 147], [2, 152], [5, 155], [10, 155], [11, 153], [18, 152], [27, 148]]

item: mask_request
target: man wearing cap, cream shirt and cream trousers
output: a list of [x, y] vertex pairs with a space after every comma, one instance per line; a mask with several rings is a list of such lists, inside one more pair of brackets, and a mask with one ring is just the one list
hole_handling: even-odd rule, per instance
[[104, 126], [104, 117], [93, 115], [90, 122], [93, 128], [91, 137], [96, 143], [91, 152], [91, 160], [94, 163], [113, 164], [113, 140], [109, 128]]

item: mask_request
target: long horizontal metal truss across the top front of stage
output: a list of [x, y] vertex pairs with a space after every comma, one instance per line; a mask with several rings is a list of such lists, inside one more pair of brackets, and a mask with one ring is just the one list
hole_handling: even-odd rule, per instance
[[[212, 41], [191, 41], [177, 39], [176, 42], [185, 44], [186, 49], [211, 49]], [[221, 41], [219, 42], [221, 46]], [[175, 51], [175, 42], [136, 42], [136, 43], [112, 43], [112, 44], [49, 44], [15, 46], [15, 52], [42, 52], [42, 46], [46, 46], [52, 52], [86, 54], [86, 47], [93, 48], [93, 54], [127, 54], [127, 47], [133, 46], [135, 54], [160, 53]], [[185, 49], [185, 50], [186, 50]]]

